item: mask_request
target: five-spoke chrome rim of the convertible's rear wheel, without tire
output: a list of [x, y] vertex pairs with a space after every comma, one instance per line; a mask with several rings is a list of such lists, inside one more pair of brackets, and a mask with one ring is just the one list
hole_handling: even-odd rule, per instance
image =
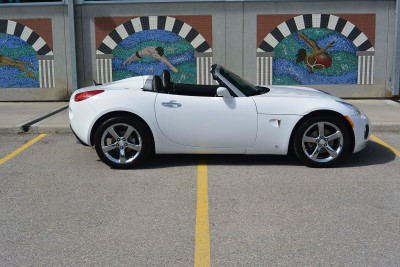
[[112, 124], [101, 136], [101, 150], [114, 163], [130, 163], [140, 155], [142, 138], [129, 124]]

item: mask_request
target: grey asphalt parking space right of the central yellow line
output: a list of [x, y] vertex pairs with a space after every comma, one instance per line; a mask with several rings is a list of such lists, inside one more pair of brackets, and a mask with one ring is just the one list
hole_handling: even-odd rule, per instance
[[334, 169], [297, 166], [285, 158], [251, 161], [209, 166], [215, 266], [399, 260], [399, 161], [393, 153], [371, 142]]

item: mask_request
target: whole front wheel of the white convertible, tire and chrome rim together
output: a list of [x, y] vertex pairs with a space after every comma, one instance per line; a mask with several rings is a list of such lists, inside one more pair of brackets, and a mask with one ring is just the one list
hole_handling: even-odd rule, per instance
[[332, 167], [349, 154], [350, 147], [348, 128], [330, 115], [305, 120], [294, 139], [297, 157], [309, 167]]

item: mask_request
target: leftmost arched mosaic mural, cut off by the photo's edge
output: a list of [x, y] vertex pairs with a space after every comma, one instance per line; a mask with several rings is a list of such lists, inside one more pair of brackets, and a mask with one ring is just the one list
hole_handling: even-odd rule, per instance
[[55, 87], [51, 32], [51, 19], [0, 19], [1, 88]]

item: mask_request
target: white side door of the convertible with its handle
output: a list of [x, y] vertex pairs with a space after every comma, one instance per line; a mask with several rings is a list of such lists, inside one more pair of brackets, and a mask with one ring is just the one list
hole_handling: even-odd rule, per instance
[[158, 94], [155, 114], [171, 141], [203, 148], [248, 148], [257, 134], [257, 110], [250, 97]]

